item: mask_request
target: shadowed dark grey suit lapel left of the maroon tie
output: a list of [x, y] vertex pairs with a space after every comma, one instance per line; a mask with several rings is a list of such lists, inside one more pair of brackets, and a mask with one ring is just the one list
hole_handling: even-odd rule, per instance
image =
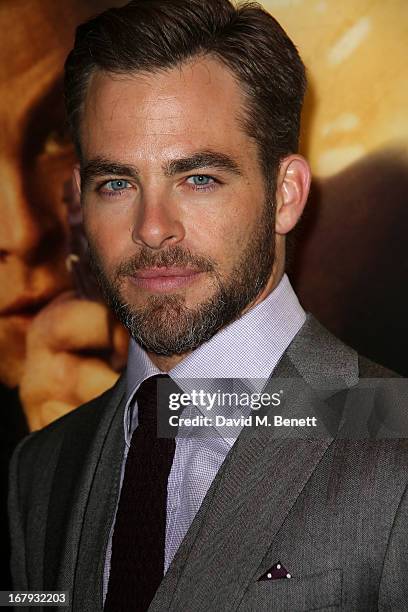
[[85, 508], [102, 447], [124, 389], [124, 377], [121, 377], [113, 389], [84, 407], [87, 415], [82, 417], [80, 435], [76, 420], [67, 427], [48, 507], [45, 589], [63, 588], [73, 593]]

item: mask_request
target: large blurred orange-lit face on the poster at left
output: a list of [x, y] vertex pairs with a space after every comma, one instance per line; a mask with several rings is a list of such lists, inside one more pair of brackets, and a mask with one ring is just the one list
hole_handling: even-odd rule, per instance
[[33, 316], [68, 285], [63, 186], [74, 158], [58, 82], [69, 39], [56, 28], [68, 36], [73, 24], [56, 4], [0, 5], [0, 381], [10, 386]]

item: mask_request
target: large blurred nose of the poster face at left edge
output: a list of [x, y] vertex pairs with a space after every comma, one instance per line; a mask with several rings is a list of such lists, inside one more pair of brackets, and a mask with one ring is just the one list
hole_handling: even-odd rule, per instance
[[60, 225], [57, 211], [46, 209], [43, 199], [37, 198], [39, 195], [28, 193], [23, 168], [18, 163], [0, 160], [2, 259], [9, 255], [24, 260], [38, 259], [45, 247], [49, 249], [50, 242], [55, 242], [56, 235], [61, 233], [57, 230]]

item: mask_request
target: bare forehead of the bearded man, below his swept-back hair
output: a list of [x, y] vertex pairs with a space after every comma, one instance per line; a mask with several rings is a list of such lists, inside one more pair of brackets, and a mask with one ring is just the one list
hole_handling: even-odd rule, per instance
[[[85, 99], [81, 139], [85, 156], [117, 154], [126, 144], [238, 145], [246, 103], [233, 73], [211, 57], [156, 73], [96, 73]], [[112, 151], [107, 149], [112, 148]]]

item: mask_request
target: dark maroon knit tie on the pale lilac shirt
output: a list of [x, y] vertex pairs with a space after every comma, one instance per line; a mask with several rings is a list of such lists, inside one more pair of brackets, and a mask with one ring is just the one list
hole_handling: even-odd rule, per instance
[[167, 480], [176, 444], [174, 438], [157, 437], [159, 378], [168, 376], [147, 379], [136, 394], [139, 424], [113, 531], [106, 612], [145, 612], [163, 578]]

